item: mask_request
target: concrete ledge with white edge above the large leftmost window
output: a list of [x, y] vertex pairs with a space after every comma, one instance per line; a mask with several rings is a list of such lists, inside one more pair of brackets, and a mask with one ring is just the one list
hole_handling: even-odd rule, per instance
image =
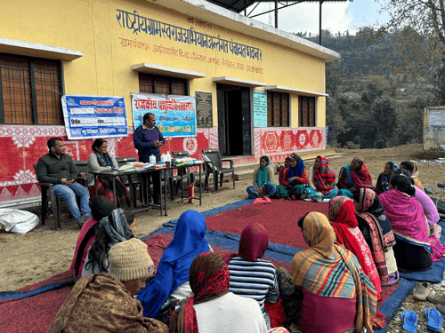
[[0, 37], [0, 52], [19, 54], [28, 57], [75, 60], [83, 57], [84, 53], [75, 50], [63, 49], [57, 46], [29, 43]]

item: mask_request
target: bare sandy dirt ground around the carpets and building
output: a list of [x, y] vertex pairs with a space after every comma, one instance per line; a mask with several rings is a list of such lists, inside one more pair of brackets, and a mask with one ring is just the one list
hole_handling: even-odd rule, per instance
[[[425, 152], [422, 152], [422, 145], [414, 144], [386, 149], [338, 149], [336, 156], [328, 157], [329, 165], [338, 174], [340, 168], [351, 163], [354, 156], [363, 158], [374, 184], [377, 176], [384, 170], [384, 163], [416, 160], [419, 165], [418, 178], [425, 189], [433, 191], [432, 197], [445, 200], [445, 190], [437, 186], [437, 183], [445, 183], [445, 163], [438, 162], [441, 160], [416, 159], [428, 157]], [[438, 156], [433, 155], [433, 157]], [[306, 161], [306, 170], [312, 165], [313, 160]], [[278, 175], [276, 178], [278, 182]], [[246, 187], [251, 183], [251, 179], [240, 180], [236, 182], [235, 189], [232, 189], [232, 184], [226, 183], [218, 193], [214, 193], [212, 188], [209, 194], [203, 191], [201, 206], [198, 202], [174, 204], [168, 207], [167, 217], [160, 217], [158, 210], [138, 213], [135, 235], [140, 238], [146, 236], [170, 219], [179, 218], [185, 210], [210, 210], [246, 199]], [[295, 230], [296, 232], [298, 231]], [[36, 226], [28, 234], [9, 234], [4, 230], [0, 231], [0, 253], [2, 253], [0, 291], [20, 289], [69, 270], [78, 234], [78, 226], [69, 218], [62, 220], [60, 231], [55, 230], [53, 218], [47, 219], [44, 226]]]

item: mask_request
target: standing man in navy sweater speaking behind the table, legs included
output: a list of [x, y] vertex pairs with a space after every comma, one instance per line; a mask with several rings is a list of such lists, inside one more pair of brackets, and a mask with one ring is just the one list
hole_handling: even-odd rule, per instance
[[[159, 147], [166, 144], [166, 140], [162, 136], [156, 124], [156, 115], [152, 113], [146, 113], [143, 115], [143, 122], [136, 131], [134, 131], [134, 147], [138, 150], [139, 162], [150, 162], [150, 155], [156, 156], [156, 162], [160, 161], [161, 151]], [[161, 182], [159, 172], [150, 172], [148, 174], [148, 193], [150, 195], [150, 177], [153, 181], [153, 203], [159, 203], [159, 196], [161, 194]], [[144, 195], [146, 194], [144, 188]], [[146, 196], [147, 197], [147, 196]], [[148, 198], [150, 202], [150, 197]]]

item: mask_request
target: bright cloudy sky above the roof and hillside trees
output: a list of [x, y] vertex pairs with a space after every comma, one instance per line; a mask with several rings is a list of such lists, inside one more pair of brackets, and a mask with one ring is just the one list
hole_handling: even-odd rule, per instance
[[[360, 27], [384, 23], [389, 20], [389, 15], [387, 12], [381, 12], [382, 4], [384, 4], [384, 0], [377, 0], [377, 2], [375, 0], [354, 0], [353, 2], [324, 3], [321, 12], [322, 28], [329, 30], [332, 34], [337, 34], [338, 31], [344, 33], [349, 30], [349, 33], [353, 35]], [[269, 8], [269, 4], [260, 4], [250, 16], [268, 11]], [[271, 9], [274, 8], [275, 5], [271, 4]], [[283, 8], [279, 10], [279, 29], [287, 32], [307, 31], [308, 33], [318, 34], [319, 12], [319, 3], [295, 4]], [[269, 24], [269, 14], [257, 16], [254, 20]], [[271, 22], [272, 25], [275, 25], [273, 17]]]

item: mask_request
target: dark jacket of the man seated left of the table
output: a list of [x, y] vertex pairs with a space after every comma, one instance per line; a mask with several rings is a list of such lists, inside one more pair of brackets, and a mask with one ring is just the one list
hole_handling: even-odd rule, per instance
[[63, 154], [59, 159], [50, 152], [38, 159], [36, 174], [41, 183], [61, 184], [62, 178], [77, 180], [77, 167], [71, 156]]

